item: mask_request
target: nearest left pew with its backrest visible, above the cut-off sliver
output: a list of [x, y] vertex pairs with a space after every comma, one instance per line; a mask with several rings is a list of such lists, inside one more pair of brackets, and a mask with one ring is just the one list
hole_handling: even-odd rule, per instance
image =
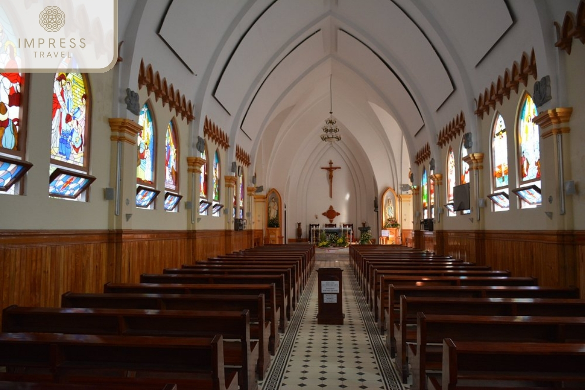
[[238, 372], [223, 363], [221, 335], [0, 333], [0, 365], [2, 381], [164, 385], [173, 378], [179, 390], [238, 389]]

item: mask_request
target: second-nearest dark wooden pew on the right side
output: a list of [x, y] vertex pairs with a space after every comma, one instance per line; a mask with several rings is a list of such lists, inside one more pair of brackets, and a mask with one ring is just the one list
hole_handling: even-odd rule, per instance
[[[581, 310], [581, 313], [584, 312]], [[447, 338], [460, 341], [585, 343], [585, 317], [426, 315], [419, 312], [416, 343], [408, 344], [412, 390], [425, 389], [428, 370], [441, 371], [441, 343]]]

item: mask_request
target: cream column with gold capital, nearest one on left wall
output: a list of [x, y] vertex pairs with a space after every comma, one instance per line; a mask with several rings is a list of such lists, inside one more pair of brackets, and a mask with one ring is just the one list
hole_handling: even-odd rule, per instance
[[132, 214], [136, 208], [136, 139], [142, 126], [132, 119], [109, 118], [111, 130], [110, 185], [114, 199], [110, 210], [110, 229], [132, 229]]

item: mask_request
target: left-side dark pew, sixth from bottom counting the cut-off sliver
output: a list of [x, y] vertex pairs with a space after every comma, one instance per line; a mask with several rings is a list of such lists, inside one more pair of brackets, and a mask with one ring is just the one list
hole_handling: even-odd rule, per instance
[[142, 274], [143, 284], [274, 284], [276, 305], [280, 309], [278, 329], [284, 333], [287, 329], [287, 308], [291, 294], [285, 291], [284, 275], [178, 275], [178, 274]]

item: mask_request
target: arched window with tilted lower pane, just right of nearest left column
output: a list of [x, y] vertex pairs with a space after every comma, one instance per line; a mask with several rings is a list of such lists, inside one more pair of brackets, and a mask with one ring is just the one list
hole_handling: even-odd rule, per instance
[[138, 124], [142, 131], [138, 134], [137, 149], [138, 158], [136, 162], [136, 206], [140, 208], [153, 209], [154, 199], [159, 195], [154, 189], [154, 154], [156, 153], [156, 127], [152, 111], [148, 103], [144, 103], [140, 109]]

